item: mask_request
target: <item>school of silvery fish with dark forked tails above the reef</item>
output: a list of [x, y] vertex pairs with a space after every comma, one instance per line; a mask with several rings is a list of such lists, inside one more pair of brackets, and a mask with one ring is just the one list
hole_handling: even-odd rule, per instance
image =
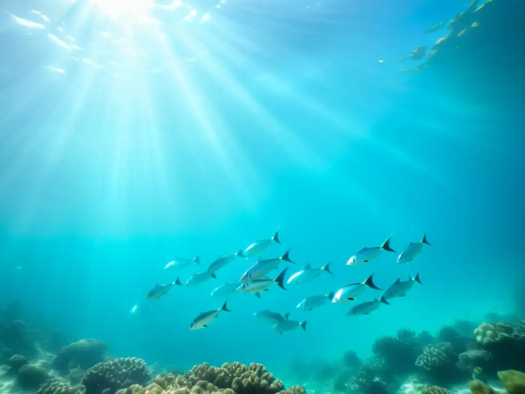
[[[346, 262], [346, 265], [358, 266], [366, 264], [383, 252], [396, 253], [396, 251], [390, 246], [391, 236], [389, 236], [381, 246], [363, 247], [361, 250], [350, 256]], [[146, 298], [148, 300], [159, 299], [160, 297], [166, 295], [174, 286], [196, 286], [206, 282], [209, 278], [216, 278], [217, 276], [215, 275], [215, 272], [218, 271], [218, 269], [234, 262], [237, 258], [243, 258], [247, 260], [250, 257], [254, 257], [265, 251], [274, 242], [281, 244], [279, 240], [279, 229], [277, 229], [274, 236], [272, 236], [270, 239], [255, 241], [244, 250], [239, 250], [236, 253], [230, 255], [217, 257], [211, 264], [209, 264], [207, 269], [194, 274], [189, 279], [187, 279], [184, 284], [180, 281], [180, 278], [177, 278], [171, 283], [161, 285], [156, 284], [150, 290]], [[409, 262], [414, 260], [414, 258], [423, 251], [425, 245], [431, 246], [431, 244], [426, 239], [426, 234], [423, 235], [421, 241], [409, 243], [405, 249], [397, 255], [396, 263], [408, 265]], [[323, 274], [333, 275], [330, 271], [330, 263], [319, 268], [314, 268], [310, 264], [307, 264], [302, 269], [298, 269], [297, 272], [289, 275], [287, 278], [289, 267], [297, 265], [296, 262], [291, 260], [289, 254], [290, 249], [288, 249], [282, 256], [279, 257], [267, 258], [265, 260], [259, 259], [256, 263], [246, 269], [242, 275], [240, 275], [238, 283], [224, 283], [216, 287], [211, 293], [211, 296], [227, 297], [233, 293], [250, 293], [260, 298], [260, 293], [269, 291], [269, 288], [273, 285], [278, 285], [280, 288], [286, 290], [286, 286], [310, 282]], [[279, 275], [273, 278], [272, 276], [268, 276], [271, 271], [278, 268], [283, 263], [290, 263], [290, 265], [282, 269]], [[192, 265], [200, 266], [200, 264], [201, 262], [199, 256], [195, 256], [194, 258], [177, 257], [174, 261], [166, 264], [164, 269], [176, 271], [177, 269], [183, 269]], [[408, 275], [408, 279], [406, 280], [398, 278], [390, 287], [381, 289], [374, 284], [373, 276], [374, 274], [372, 273], [369, 277], [364, 279], [363, 282], [346, 284], [341, 288], [330, 292], [329, 294], [317, 294], [304, 298], [297, 305], [297, 308], [313, 310], [327, 304], [355, 301], [355, 299], [365, 291], [366, 287], [370, 287], [377, 291], [383, 291], [383, 294], [380, 297], [374, 298], [373, 300], [355, 304], [346, 314], [347, 316], [369, 315], [381, 305], [391, 305], [390, 301], [392, 299], [405, 297], [406, 294], [412, 289], [415, 282], [423, 284], [419, 278], [418, 273], [414, 277]], [[137, 305], [133, 307], [131, 313], [135, 313], [135, 310], [137, 310]], [[220, 312], [223, 311], [231, 312], [227, 308], [226, 302], [224, 302], [223, 306], [218, 309], [208, 310], [207, 312], [200, 313], [192, 320], [189, 329], [198, 330], [208, 327], [208, 324], [213, 322], [213, 320], [219, 316]], [[263, 309], [254, 313], [254, 317], [256, 319], [260, 320], [260, 322], [271, 324], [272, 328], [278, 331], [280, 334], [282, 334], [283, 331], [291, 331], [299, 327], [301, 327], [303, 330], [306, 330], [306, 320], [303, 322], [291, 320], [289, 315], [289, 313], [281, 315], [277, 312], [271, 312], [268, 309]]]

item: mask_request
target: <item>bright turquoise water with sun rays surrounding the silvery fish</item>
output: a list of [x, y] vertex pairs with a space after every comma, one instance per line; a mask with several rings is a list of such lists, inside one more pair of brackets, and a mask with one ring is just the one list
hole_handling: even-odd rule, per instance
[[[193, 2], [192, 22], [184, 7], [153, 12], [160, 26], [122, 24], [83, 2], [2, 3], [0, 303], [20, 299], [114, 355], [185, 368], [256, 361], [276, 375], [292, 357], [367, 356], [405, 326], [512, 312], [524, 272], [521, 102], [437, 88], [468, 69], [397, 73], [397, 58], [444, 35], [422, 32], [464, 1]], [[335, 275], [261, 299], [235, 294], [233, 313], [200, 331], [187, 329], [193, 317], [223, 302], [212, 289], [253, 262], [144, 303], [175, 279], [162, 269], [174, 256], [199, 254], [205, 268], [278, 225], [283, 245], [264, 256], [291, 247], [301, 266], [332, 261]], [[391, 233], [402, 250], [424, 232], [434, 246], [409, 271], [388, 253], [344, 265]], [[345, 316], [350, 304], [293, 310], [371, 272], [381, 287], [420, 272], [425, 286], [360, 318]], [[307, 319], [307, 332], [258, 323], [251, 314], [266, 307]]]

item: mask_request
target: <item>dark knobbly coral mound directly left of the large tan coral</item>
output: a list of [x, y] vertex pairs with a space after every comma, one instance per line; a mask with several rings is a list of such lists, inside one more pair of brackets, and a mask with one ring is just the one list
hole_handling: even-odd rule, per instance
[[131, 385], [143, 385], [150, 380], [148, 365], [140, 358], [117, 358], [99, 362], [82, 378], [86, 394], [113, 394]]

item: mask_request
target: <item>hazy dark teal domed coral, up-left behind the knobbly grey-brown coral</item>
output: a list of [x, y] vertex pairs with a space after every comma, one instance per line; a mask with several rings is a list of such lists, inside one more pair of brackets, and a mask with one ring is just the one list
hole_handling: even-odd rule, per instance
[[79, 366], [89, 369], [95, 364], [104, 361], [108, 345], [98, 339], [80, 339], [60, 349], [58, 355], [51, 362], [51, 367], [57, 371], [67, 371]]

